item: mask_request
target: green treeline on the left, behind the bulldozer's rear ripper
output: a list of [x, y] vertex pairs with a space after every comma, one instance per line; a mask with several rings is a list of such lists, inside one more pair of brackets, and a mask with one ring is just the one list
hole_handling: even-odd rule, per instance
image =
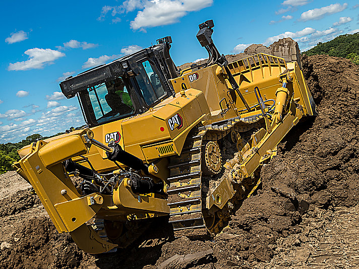
[[[54, 136], [58, 136], [61, 133], [56, 133]], [[0, 174], [8, 172], [10, 170], [14, 170], [11, 165], [20, 160], [20, 156], [18, 154], [18, 150], [22, 147], [30, 145], [38, 140], [47, 139], [50, 137], [42, 137], [41, 134], [35, 133], [28, 136], [21, 142], [18, 143], [6, 143], [0, 144]]]

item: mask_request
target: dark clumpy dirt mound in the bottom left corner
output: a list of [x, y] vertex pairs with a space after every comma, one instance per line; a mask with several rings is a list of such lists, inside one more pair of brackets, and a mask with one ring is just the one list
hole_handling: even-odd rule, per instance
[[74, 268], [82, 257], [70, 235], [58, 234], [48, 217], [26, 220], [10, 243], [1, 252], [2, 268]]

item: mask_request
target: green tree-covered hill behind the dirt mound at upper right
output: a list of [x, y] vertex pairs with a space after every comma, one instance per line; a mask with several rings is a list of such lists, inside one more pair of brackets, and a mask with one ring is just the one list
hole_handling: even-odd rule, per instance
[[325, 43], [319, 42], [314, 48], [303, 53], [308, 56], [328, 54], [329, 56], [344, 57], [359, 65], [359, 33], [340, 35]]

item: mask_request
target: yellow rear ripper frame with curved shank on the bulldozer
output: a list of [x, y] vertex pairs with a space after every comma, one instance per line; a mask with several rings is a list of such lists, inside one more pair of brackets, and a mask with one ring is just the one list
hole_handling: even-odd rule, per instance
[[116, 245], [102, 240], [86, 222], [101, 209], [104, 196], [80, 195], [63, 162], [86, 154], [93, 138], [89, 129], [72, 132], [51, 142], [38, 141], [16, 165], [34, 187], [58, 232], [70, 232], [76, 244], [89, 253], [108, 251]]

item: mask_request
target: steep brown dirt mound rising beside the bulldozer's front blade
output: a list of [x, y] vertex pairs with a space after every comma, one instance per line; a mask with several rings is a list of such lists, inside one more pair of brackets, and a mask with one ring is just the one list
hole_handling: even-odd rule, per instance
[[294, 128], [261, 173], [264, 188], [286, 182], [311, 204], [353, 206], [359, 158], [359, 66], [326, 55], [303, 57], [318, 116]]

